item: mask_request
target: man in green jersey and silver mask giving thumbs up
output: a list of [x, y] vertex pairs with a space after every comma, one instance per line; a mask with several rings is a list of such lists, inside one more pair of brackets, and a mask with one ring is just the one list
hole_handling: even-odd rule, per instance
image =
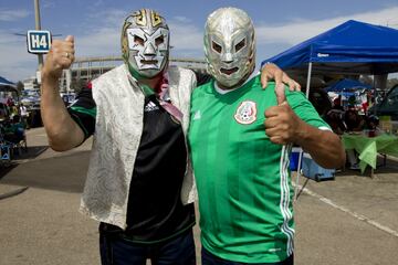
[[206, 23], [214, 81], [191, 97], [189, 145], [199, 193], [202, 264], [293, 264], [289, 171], [293, 144], [325, 168], [341, 167], [339, 138], [302, 93], [263, 91], [254, 70], [254, 28], [222, 8]]

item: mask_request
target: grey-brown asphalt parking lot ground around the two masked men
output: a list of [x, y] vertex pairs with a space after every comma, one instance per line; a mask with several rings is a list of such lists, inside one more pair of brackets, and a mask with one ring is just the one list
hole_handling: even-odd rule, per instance
[[[0, 168], [0, 198], [20, 192], [0, 199], [0, 264], [100, 264], [97, 224], [77, 212], [91, 142], [54, 152], [35, 128], [28, 146]], [[295, 264], [398, 264], [398, 161], [375, 172], [306, 183], [295, 202]], [[199, 254], [198, 227], [196, 237]]]

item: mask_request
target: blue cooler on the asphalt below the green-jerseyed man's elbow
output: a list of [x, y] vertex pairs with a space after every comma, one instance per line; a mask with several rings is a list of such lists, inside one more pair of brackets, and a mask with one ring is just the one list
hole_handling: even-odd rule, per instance
[[303, 176], [315, 181], [334, 180], [335, 169], [325, 169], [317, 165], [310, 156], [304, 152], [302, 159], [302, 172]]

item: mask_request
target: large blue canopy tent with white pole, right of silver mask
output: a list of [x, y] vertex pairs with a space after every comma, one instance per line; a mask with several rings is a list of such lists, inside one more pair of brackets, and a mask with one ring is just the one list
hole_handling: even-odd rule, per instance
[[[306, 73], [308, 97], [312, 72], [373, 75], [398, 72], [398, 30], [349, 20], [263, 64], [265, 62], [275, 63], [285, 71]], [[298, 167], [301, 157], [302, 151]], [[300, 168], [297, 183], [298, 176]]]

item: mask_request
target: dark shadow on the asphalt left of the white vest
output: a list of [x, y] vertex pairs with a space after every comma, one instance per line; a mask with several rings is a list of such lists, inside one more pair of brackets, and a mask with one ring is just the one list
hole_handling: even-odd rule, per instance
[[28, 161], [0, 169], [1, 183], [34, 187], [63, 192], [83, 191], [90, 151]]

